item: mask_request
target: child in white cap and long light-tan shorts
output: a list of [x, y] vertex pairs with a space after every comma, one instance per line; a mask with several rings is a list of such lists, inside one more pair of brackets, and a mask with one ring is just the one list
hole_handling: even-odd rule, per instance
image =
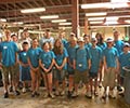
[[105, 94], [104, 97], [106, 97], [106, 89], [109, 86], [109, 96], [115, 98], [114, 95], [114, 89], [116, 85], [116, 75], [119, 70], [119, 64], [118, 64], [118, 51], [113, 46], [114, 40], [112, 38], [108, 38], [106, 40], [107, 48], [104, 50], [104, 87], [105, 87]]

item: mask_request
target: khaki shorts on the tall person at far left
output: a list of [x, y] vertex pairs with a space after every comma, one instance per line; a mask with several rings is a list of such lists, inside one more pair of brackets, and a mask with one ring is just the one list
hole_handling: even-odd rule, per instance
[[10, 79], [12, 81], [16, 81], [17, 80], [17, 66], [13, 65], [13, 66], [2, 66], [3, 71], [2, 71], [2, 79], [4, 83], [9, 83], [9, 76]]

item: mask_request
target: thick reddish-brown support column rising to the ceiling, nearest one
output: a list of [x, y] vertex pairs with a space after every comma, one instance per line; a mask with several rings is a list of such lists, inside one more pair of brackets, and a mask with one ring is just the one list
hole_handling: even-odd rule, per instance
[[79, 0], [72, 0], [72, 24], [73, 32], [79, 35]]

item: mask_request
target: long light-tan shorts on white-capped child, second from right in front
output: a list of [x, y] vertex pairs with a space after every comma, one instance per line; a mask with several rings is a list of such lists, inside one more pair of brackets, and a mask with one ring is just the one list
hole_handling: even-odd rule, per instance
[[105, 71], [104, 73], [104, 81], [103, 81], [103, 85], [109, 86], [112, 89], [115, 87], [116, 85], [116, 69], [115, 68], [108, 68], [107, 71]]

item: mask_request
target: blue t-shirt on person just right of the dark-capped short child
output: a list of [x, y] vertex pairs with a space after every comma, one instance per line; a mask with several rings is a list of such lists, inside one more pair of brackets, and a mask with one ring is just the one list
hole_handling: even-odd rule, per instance
[[29, 57], [32, 67], [37, 68], [39, 66], [39, 56], [42, 50], [40, 48], [30, 48], [27, 52], [27, 57]]

